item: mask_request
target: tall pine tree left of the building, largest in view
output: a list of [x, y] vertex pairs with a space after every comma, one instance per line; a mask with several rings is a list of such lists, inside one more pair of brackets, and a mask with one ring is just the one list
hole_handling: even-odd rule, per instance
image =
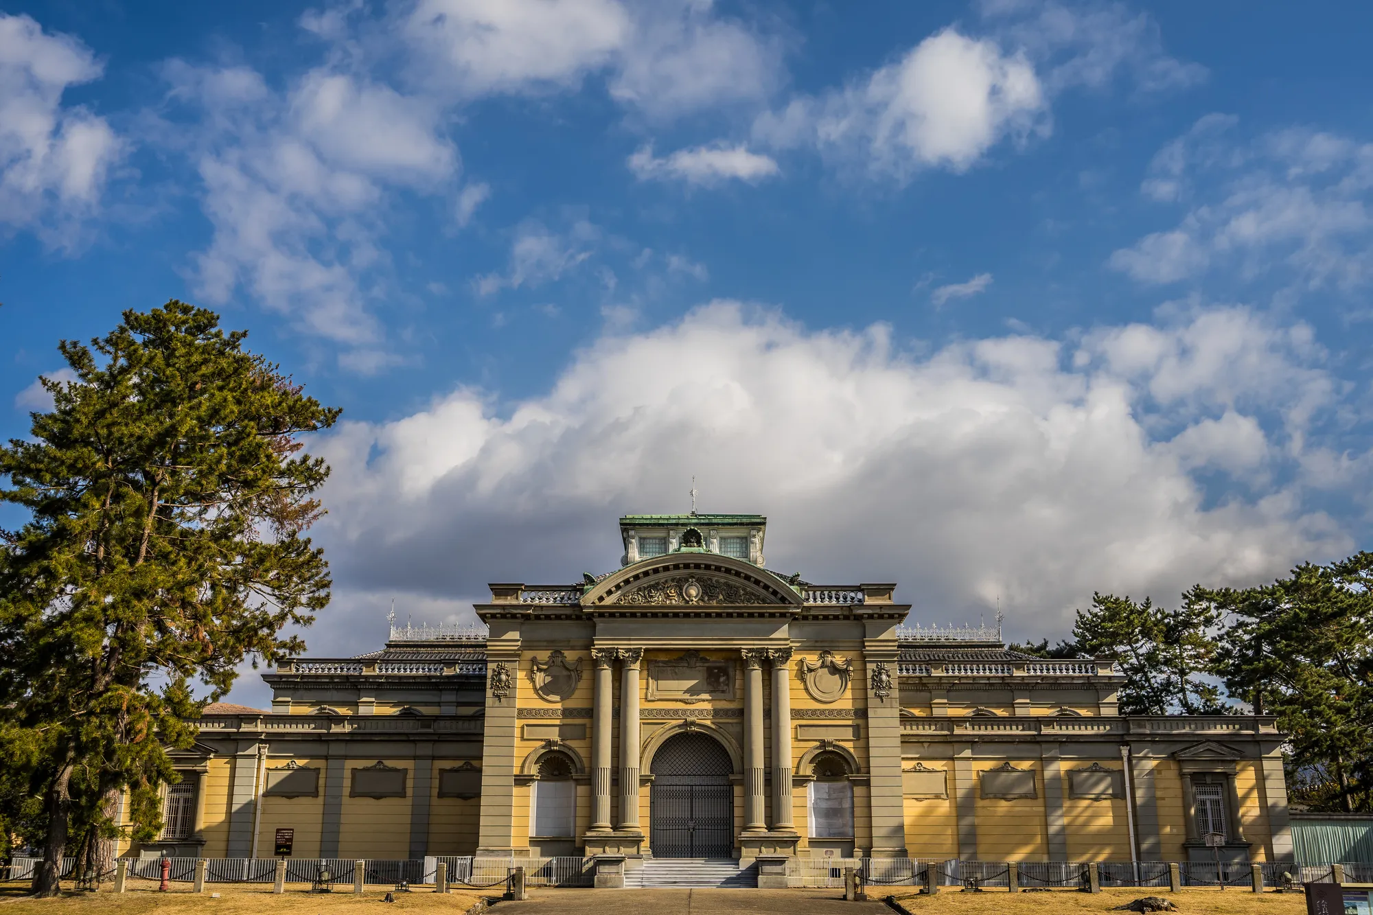
[[76, 381], [45, 381], [54, 409], [0, 448], [0, 497], [30, 512], [0, 545], [0, 719], [41, 782], [36, 894], [58, 892], [73, 845], [108, 837], [125, 789], [154, 835], [176, 778], [163, 746], [194, 741], [191, 681], [222, 697], [246, 657], [302, 650], [283, 626], [328, 603], [302, 536], [328, 467], [299, 437], [339, 411], [244, 337], [177, 301], [125, 312], [91, 348], [62, 342]]

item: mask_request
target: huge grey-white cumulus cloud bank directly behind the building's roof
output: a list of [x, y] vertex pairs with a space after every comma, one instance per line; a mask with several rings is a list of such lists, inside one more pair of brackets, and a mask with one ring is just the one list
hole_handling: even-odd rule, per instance
[[1020, 632], [1048, 633], [1097, 588], [1171, 599], [1350, 548], [1296, 488], [1218, 497], [1193, 477], [1291, 460], [1292, 436], [1256, 418], [1329, 405], [1306, 332], [1208, 309], [916, 357], [881, 326], [811, 331], [714, 302], [607, 331], [518, 403], [464, 387], [343, 423], [320, 449], [320, 537], [345, 613], [379, 618], [389, 594], [459, 613], [486, 581], [615, 567], [615, 518], [685, 508], [695, 474], [703, 510], [769, 515], [774, 569], [897, 580], [925, 621], [1001, 595]]

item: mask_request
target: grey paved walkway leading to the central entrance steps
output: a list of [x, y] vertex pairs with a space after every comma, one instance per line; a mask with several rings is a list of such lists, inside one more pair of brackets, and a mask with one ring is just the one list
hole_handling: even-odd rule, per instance
[[876, 915], [891, 910], [883, 903], [846, 903], [842, 890], [649, 889], [529, 892], [529, 901], [497, 903], [492, 915], [703, 915], [758, 912], [759, 915]]

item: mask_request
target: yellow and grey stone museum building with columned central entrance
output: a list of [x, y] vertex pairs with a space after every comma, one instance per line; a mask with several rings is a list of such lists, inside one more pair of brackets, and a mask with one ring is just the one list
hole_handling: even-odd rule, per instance
[[479, 631], [393, 621], [281, 662], [270, 710], [207, 706], [125, 853], [1292, 859], [1271, 717], [1120, 716], [1111, 659], [770, 572], [761, 515], [619, 528], [619, 569], [493, 584]]

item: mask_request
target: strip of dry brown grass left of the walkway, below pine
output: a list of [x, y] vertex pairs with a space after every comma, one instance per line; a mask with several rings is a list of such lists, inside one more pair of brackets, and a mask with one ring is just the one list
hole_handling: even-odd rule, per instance
[[[132, 883], [132, 882], [130, 882]], [[397, 893], [394, 903], [383, 903], [387, 886], [368, 886], [362, 896], [353, 896], [353, 886], [338, 886], [332, 893], [312, 893], [308, 883], [287, 883], [286, 893], [277, 896], [272, 885], [242, 886], [210, 883], [205, 893], [192, 893], [189, 883], [172, 883], [172, 892], [158, 893], [157, 883], [139, 881], [128, 893], [67, 893], [60, 899], [27, 899], [26, 883], [0, 883], [0, 905], [14, 904], [25, 910], [41, 910], [51, 915], [461, 915], [481, 896], [500, 894], [500, 888], [486, 892], [457, 890], [448, 894], [419, 888], [411, 893]], [[210, 893], [218, 893], [213, 899]]]

